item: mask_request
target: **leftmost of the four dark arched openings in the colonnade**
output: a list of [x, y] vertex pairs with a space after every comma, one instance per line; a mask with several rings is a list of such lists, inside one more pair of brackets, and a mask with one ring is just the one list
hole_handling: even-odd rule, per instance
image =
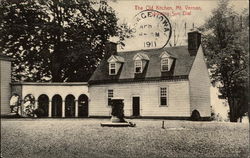
[[38, 97], [38, 109], [41, 112], [40, 117], [48, 117], [49, 97], [42, 94]]

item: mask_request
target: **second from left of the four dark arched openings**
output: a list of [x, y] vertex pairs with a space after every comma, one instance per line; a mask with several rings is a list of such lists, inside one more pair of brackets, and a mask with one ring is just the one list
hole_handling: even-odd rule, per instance
[[52, 98], [52, 117], [62, 117], [62, 97], [58, 94]]

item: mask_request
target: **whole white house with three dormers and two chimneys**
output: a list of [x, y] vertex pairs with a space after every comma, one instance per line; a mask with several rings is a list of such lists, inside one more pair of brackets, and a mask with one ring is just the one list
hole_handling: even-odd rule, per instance
[[89, 116], [110, 116], [109, 100], [124, 98], [125, 116], [208, 118], [210, 79], [200, 45], [201, 34], [188, 33], [188, 46], [117, 52], [107, 57], [89, 80]]

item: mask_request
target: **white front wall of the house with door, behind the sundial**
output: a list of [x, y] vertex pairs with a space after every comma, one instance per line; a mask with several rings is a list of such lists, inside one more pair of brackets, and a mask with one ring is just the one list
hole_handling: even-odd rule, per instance
[[[160, 87], [168, 87], [168, 106], [160, 106]], [[164, 81], [144, 83], [121, 83], [89, 86], [90, 116], [110, 116], [108, 89], [114, 90], [114, 97], [124, 98], [125, 116], [132, 115], [132, 97], [140, 96], [141, 116], [189, 117], [188, 81]]]

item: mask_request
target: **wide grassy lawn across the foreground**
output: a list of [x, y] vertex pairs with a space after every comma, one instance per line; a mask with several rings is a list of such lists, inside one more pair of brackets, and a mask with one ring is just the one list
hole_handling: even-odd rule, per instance
[[249, 125], [133, 119], [136, 127], [101, 127], [108, 119], [2, 119], [1, 156], [247, 157]]

